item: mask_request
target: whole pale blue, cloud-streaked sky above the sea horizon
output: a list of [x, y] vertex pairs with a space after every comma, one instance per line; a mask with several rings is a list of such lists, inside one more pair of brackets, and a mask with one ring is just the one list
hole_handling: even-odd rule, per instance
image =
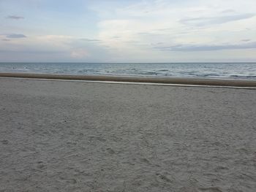
[[0, 62], [255, 62], [255, 0], [0, 0]]

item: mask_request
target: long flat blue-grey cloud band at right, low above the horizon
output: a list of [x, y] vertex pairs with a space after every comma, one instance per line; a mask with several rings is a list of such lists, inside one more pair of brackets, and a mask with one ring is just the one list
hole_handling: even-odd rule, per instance
[[158, 50], [169, 51], [213, 51], [213, 50], [239, 50], [255, 49], [256, 42], [244, 43], [241, 45], [173, 45], [170, 47], [154, 47]]

